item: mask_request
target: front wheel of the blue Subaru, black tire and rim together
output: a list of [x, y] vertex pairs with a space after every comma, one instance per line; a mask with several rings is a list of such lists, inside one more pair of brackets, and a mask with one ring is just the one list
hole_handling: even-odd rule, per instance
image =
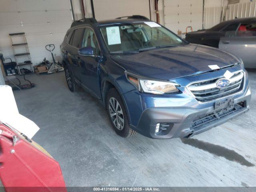
[[115, 88], [111, 88], [106, 96], [108, 117], [115, 130], [121, 137], [131, 137], [137, 134], [129, 126], [128, 116], [122, 98]]

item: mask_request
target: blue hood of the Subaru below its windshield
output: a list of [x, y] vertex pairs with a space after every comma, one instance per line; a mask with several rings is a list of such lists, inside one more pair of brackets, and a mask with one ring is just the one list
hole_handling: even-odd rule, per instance
[[196, 44], [116, 54], [111, 59], [128, 72], [161, 80], [208, 72], [209, 65], [223, 68], [239, 62], [227, 52]]

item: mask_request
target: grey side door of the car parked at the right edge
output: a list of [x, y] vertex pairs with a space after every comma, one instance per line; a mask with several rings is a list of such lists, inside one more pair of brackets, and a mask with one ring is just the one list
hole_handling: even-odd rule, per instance
[[256, 31], [230, 31], [220, 38], [219, 48], [242, 59], [246, 68], [256, 68]]

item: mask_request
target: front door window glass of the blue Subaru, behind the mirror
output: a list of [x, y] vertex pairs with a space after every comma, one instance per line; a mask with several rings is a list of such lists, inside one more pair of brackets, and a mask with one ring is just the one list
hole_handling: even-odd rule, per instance
[[86, 28], [84, 31], [82, 47], [92, 47], [93, 54], [96, 56], [100, 55], [100, 47], [98, 45], [98, 41], [96, 39], [94, 31], [90, 28]]

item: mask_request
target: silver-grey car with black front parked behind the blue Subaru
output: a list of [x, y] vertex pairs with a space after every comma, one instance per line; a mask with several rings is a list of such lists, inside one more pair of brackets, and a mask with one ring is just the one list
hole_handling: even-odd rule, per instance
[[228, 20], [187, 33], [186, 41], [220, 48], [242, 58], [245, 68], [256, 68], [256, 17]]

